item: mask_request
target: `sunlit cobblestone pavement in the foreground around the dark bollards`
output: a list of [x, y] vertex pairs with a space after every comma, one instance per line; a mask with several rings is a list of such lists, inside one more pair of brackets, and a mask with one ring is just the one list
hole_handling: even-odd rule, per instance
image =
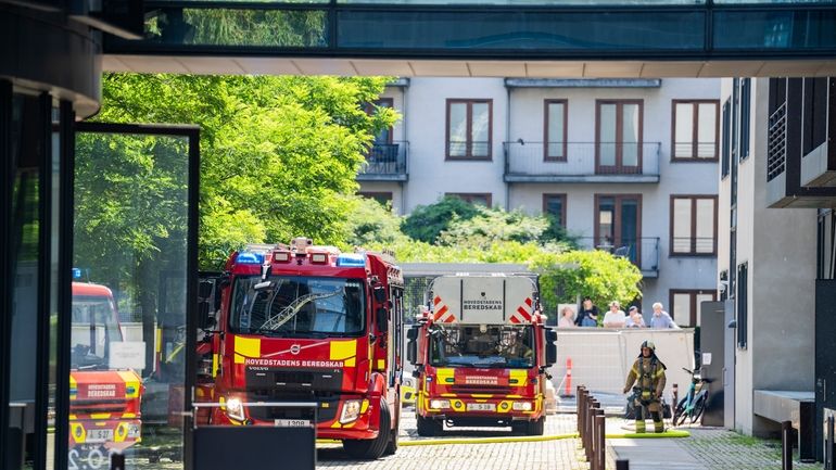
[[[435, 437], [420, 437], [415, 430], [411, 409], [405, 409], [401, 428], [401, 442], [421, 441]], [[623, 419], [609, 418], [608, 432], [626, 432]], [[546, 435], [574, 432], [574, 415], [555, 415], [546, 420]], [[710, 428], [689, 428], [691, 437], [666, 440], [667, 452], [685, 453], [696, 466], [707, 470], [778, 470], [781, 469], [781, 443], [740, 435], [733, 431]], [[510, 429], [446, 429], [442, 437], [495, 437], [511, 436]], [[636, 446], [647, 447], [653, 453], [654, 440], [634, 440]], [[657, 441], [658, 442], [658, 441]], [[319, 468], [341, 469], [421, 469], [433, 470], [529, 470], [566, 469], [587, 470], [583, 449], [577, 439], [525, 443], [449, 444], [402, 446], [396, 455], [376, 461], [351, 460], [339, 444], [320, 445]], [[608, 448], [607, 468], [615, 468], [615, 453]], [[797, 457], [797, 456], [796, 456]], [[662, 457], [660, 460], [664, 460]], [[641, 468], [641, 466], [636, 466]], [[654, 468], [668, 470], [664, 465]], [[674, 467], [670, 467], [674, 469]], [[685, 467], [683, 467], [685, 468]], [[800, 470], [821, 469], [821, 463], [799, 463]]]

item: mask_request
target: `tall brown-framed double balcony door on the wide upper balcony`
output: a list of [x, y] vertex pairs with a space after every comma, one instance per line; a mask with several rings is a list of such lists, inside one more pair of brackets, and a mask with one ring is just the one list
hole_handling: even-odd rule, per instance
[[642, 100], [596, 102], [596, 173], [641, 173], [643, 107]]

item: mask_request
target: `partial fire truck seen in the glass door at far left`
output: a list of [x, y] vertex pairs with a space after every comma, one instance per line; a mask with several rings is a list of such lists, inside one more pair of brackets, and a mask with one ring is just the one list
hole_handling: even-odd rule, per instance
[[114, 351], [124, 344], [116, 312], [110, 289], [73, 282], [71, 468], [106, 466], [110, 453], [123, 452], [141, 440], [142, 379], [112, 360]]

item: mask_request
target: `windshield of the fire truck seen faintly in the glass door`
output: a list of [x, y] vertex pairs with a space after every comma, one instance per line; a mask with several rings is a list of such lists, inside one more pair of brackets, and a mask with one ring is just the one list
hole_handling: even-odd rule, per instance
[[112, 341], [122, 341], [116, 310], [106, 296], [73, 295], [72, 368], [106, 368]]

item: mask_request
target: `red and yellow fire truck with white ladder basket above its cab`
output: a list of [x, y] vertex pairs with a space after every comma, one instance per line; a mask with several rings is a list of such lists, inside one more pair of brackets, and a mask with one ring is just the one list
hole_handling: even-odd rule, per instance
[[557, 335], [540, 315], [534, 280], [442, 276], [430, 284], [428, 301], [407, 332], [418, 434], [438, 435], [446, 422], [542, 435]]

